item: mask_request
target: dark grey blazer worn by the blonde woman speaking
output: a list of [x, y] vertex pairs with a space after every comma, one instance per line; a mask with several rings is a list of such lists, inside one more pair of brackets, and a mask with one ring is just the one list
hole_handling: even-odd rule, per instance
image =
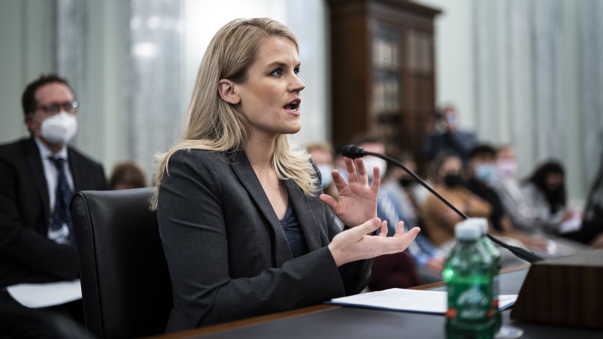
[[245, 153], [180, 150], [168, 173], [157, 209], [174, 294], [167, 332], [315, 305], [367, 285], [372, 259], [338, 268], [327, 248], [340, 232], [335, 216], [288, 180], [310, 251], [292, 259]]

